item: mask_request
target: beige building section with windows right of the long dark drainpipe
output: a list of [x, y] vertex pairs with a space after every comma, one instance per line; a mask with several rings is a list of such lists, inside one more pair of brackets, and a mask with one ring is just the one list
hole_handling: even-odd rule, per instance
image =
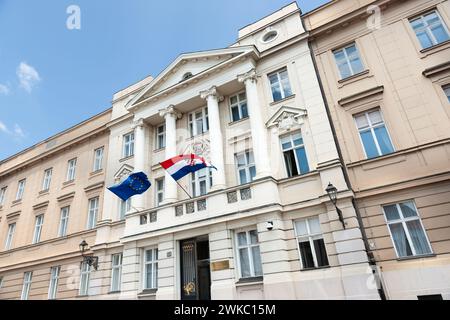
[[387, 297], [448, 299], [449, 1], [333, 1], [304, 21]]

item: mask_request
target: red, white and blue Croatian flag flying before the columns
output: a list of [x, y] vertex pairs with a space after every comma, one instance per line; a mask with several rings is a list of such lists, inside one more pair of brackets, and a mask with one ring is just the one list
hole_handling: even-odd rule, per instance
[[160, 165], [177, 181], [183, 178], [185, 175], [201, 170], [203, 168], [214, 168], [212, 164], [206, 162], [202, 157], [195, 154], [183, 154], [166, 161], [160, 162]]

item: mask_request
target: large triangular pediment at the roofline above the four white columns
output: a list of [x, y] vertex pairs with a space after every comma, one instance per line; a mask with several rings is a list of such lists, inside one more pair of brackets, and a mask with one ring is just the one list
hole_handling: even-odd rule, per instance
[[202, 74], [249, 53], [259, 54], [253, 46], [183, 53], [142, 89], [127, 104], [127, 108], [178, 85], [182, 86], [195, 79], [198, 81]]

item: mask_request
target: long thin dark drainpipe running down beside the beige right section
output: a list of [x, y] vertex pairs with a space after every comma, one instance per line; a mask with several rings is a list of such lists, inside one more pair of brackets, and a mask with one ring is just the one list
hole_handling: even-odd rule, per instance
[[[305, 26], [305, 23], [304, 23], [301, 15], [300, 15], [300, 20], [302, 22], [303, 29], [306, 32], [306, 26]], [[352, 185], [351, 185], [351, 182], [350, 182], [350, 178], [348, 176], [347, 167], [345, 166], [344, 158], [342, 157], [341, 148], [340, 148], [340, 145], [339, 145], [339, 142], [338, 142], [338, 139], [337, 139], [337, 135], [336, 135], [336, 129], [334, 127], [334, 123], [333, 123], [332, 118], [331, 118], [330, 108], [329, 108], [329, 105], [328, 105], [327, 98], [325, 96], [325, 91], [323, 89], [322, 80], [320, 78], [319, 70], [317, 69], [317, 62], [316, 62], [316, 59], [315, 59], [314, 54], [313, 54], [313, 48], [312, 48], [311, 42], [309, 41], [309, 37], [308, 37], [308, 47], [309, 47], [309, 53], [311, 55], [311, 59], [313, 61], [314, 70], [316, 72], [317, 80], [319, 82], [319, 88], [320, 88], [320, 92], [322, 94], [323, 103], [325, 105], [325, 110], [326, 110], [326, 113], [327, 113], [328, 122], [330, 123], [331, 132], [333, 133], [333, 140], [334, 140], [334, 143], [336, 145], [336, 149], [337, 149], [337, 153], [338, 153], [338, 157], [339, 157], [339, 162], [341, 163], [341, 166], [342, 166], [342, 172], [344, 174], [344, 180], [345, 180], [345, 183], [347, 184], [347, 188], [354, 193]], [[370, 246], [369, 246], [369, 241], [367, 239], [366, 230], [364, 229], [364, 225], [363, 225], [362, 218], [361, 218], [361, 213], [360, 213], [360, 211], [358, 209], [358, 206], [356, 205], [356, 199], [354, 197], [352, 197], [352, 205], [353, 205], [353, 208], [355, 209], [355, 214], [356, 214], [356, 219], [358, 221], [359, 229], [361, 230], [361, 235], [362, 235], [362, 239], [363, 239], [363, 243], [364, 243], [364, 249], [365, 249], [366, 254], [367, 254], [367, 259], [369, 261], [369, 265], [374, 267], [374, 268], [372, 268], [372, 273], [373, 273], [373, 275], [374, 275], [374, 277], [376, 279], [377, 278], [377, 272], [376, 272], [377, 264], [376, 264], [376, 261], [375, 261], [375, 257], [373, 255], [372, 251], [370, 250]], [[380, 278], [379, 279], [380, 281], [379, 281], [378, 295], [380, 296], [381, 300], [386, 300], [386, 294], [384, 292], [383, 284], [381, 283], [381, 275], [379, 276], [379, 278]]]

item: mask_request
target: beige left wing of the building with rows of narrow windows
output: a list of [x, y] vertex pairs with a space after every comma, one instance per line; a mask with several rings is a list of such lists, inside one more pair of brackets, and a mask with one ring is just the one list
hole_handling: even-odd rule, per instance
[[79, 244], [94, 243], [102, 219], [110, 117], [104, 111], [0, 163], [0, 299], [87, 295]]

